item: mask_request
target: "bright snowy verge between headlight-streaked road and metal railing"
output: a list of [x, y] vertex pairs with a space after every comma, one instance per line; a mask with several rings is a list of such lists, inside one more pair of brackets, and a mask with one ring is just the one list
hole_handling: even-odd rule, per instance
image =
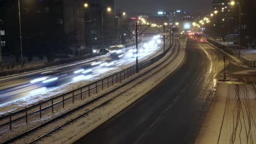
[[[166, 42], [168, 43], [168, 42]], [[143, 46], [143, 44], [142, 44]], [[144, 59], [148, 59], [152, 56], [156, 56], [159, 53], [162, 52], [162, 47], [158, 46], [155, 47], [153, 50], [150, 50], [148, 52], [144, 52], [143, 55], [141, 55], [141, 58], [139, 58], [139, 61], [143, 61]], [[104, 57], [104, 56], [100, 56]], [[121, 59], [117, 62], [115, 62], [115, 67], [111, 68], [101, 68], [95, 69], [95, 74], [93, 76], [85, 76], [81, 77], [81, 75], [77, 77], [73, 77], [73, 80], [65, 83], [64, 85], [61, 85], [59, 87], [52, 87], [52, 88], [38, 88], [33, 91], [29, 91], [26, 93], [26, 97], [22, 97], [18, 100], [11, 101], [9, 103], [1, 104], [0, 105], [0, 115], [5, 115], [8, 112], [17, 111], [20, 109], [25, 109], [25, 107], [29, 107], [33, 104], [39, 103], [40, 101], [50, 99], [53, 97], [56, 97], [57, 95], [61, 95], [63, 93], [72, 91], [73, 89], [77, 89], [79, 87], [88, 85], [89, 83], [96, 81], [98, 79], [101, 79], [103, 77], [106, 77], [110, 74], [116, 73], [117, 71], [126, 69], [132, 65], [135, 64], [135, 58], [128, 58], [127, 56], [124, 56], [124, 59]], [[64, 67], [64, 66], [63, 66]], [[65, 65], [66, 67], [66, 65]], [[106, 73], [106, 71], [108, 73]], [[96, 73], [97, 72], [97, 73]], [[71, 85], [72, 84], [72, 85]]]

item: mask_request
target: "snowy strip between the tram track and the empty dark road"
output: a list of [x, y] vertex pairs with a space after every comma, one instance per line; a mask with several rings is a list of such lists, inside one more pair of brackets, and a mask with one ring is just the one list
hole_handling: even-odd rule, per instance
[[[174, 45], [174, 47], [175, 46], [177, 45]], [[39, 141], [39, 143], [72, 143], [78, 140], [80, 137], [88, 134], [91, 130], [98, 127], [98, 125], [106, 122], [109, 118], [125, 109], [125, 107], [131, 105], [134, 101], [141, 98], [144, 94], [157, 86], [168, 75], [172, 74], [173, 71], [183, 63], [185, 57], [185, 44], [181, 44], [181, 47], [174, 49], [174, 51], [172, 50], [168, 52], [164, 58], [160, 59], [159, 62], [156, 62], [143, 71], [148, 71], [161, 62], [164, 62], [160, 64], [159, 67], [149, 71], [147, 74], [139, 77], [138, 79], [127, 83], [127, 85], [119, 88], [114, 93], [106, 95], [103, 99], [97, 100], [94, 104], [86, 106], [84, 110], [88, 111], [94, 109], [94, 107], [104, 103], [106, 99], [115, 97], [115, 95], [118, 95], [118, 97], [112, 99], [109, 103], [98, 107], [97, 109], [88, 113], [88, 115], [78, 119], [72, 124], [69, 124], [63, 127], [61, 130], [45, 137]], [[133, 78], [139, 75], [141, 74], [134, 75]], [[132, 79], [132, 77], [130, 79]], [[129, 81], [130, 79], [126, 81]], [[80, 115], [84, 112], [84, 110], [80, 110]], [[72, 118], [72, 116], [69, 118]], [[22, 139], [17, 143], [25, 142], [26, 140], [27, 138]]]

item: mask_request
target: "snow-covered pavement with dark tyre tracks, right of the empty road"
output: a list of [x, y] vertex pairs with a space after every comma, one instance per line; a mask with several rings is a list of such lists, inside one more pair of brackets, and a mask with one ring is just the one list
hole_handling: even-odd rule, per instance
[[219, 83], [195, 143], [256, 142], [253, 85]]

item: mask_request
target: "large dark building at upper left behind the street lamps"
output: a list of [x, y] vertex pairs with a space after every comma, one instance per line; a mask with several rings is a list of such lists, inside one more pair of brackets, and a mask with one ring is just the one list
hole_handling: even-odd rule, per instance
[[[21, 53], [18, 8], [18, 0], [0, 0], [0, 30], [5, 33], [1, 35], [2, 52], [16, 56], [17, 62]], [[22, 0], [23, 55], [28, 59], [46, 55], [52, 60], [67, 53], [89, 52], [86, 43], [102, 43], [101, 39], [114, 35], [113, 10], [114, 0]]]

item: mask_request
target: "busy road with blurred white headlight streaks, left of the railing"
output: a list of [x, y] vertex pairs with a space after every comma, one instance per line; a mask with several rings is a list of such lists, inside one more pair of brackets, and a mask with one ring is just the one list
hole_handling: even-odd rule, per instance
[[[148, 44], [148, 41], [151, 41], [153, 38], [148, 37], [143, 39], [143, 43], [139, 44], [139, 48], [147, 47], [144, 44]], [[161, 49], [161, 43], [158, 46], [154, 46], [154, 49], [148, 49], [148, 51], [139, 52], [139, 59], [147, 59], [149, 56], [152, 56], [154, 53], [158, 52]], [[63, 67], [60, 69], [48, 70], [49, 73], [44, 74], [32, 74], [22, 77], [17, 77], [16, 79], [8, 79], [2, 80], [0, 83], [0, 104], [8, 103], [9, 101], [17, 100], [25, 97], [32, 97], [33, 95], [40, 94], [42, 92], [50, 92], [56, 87], [60, 87], [63, 84], [76, 82], [81, 78], [82, 72], [74, 74], [75, 70], [91, 70], [90, 73], [86, 73], [84, 75], [88, 75], [91, 77], [100, 76], [104, 71], [108, 71], [113, 68], [118, 68], [122, 65], [133, 63], [135, 61], [135, 57], [130, 57], [130, 50], [135, 49], [135, 46], [127, 47], [125, 55], [120, 58], [113, 58], [109, 54], [92, 58], [90, 61], [79, 62], [78, 64], [72, 64], [70, 67]], [[146, 49], [145, 49], [146, 50]], [[122, 53], [119, 53], [122, 55]], [[101, 63], [98, 63], [101, 62]], [[108, 63], [108, 65], [103, 64]], [[56, 78], [57, 82], [53, 83], [54, 85], [49, 85], [48, 83], [36, 82], [31, 83], [31, 80], [35, 80], [41, 77], [50, 77]]]

